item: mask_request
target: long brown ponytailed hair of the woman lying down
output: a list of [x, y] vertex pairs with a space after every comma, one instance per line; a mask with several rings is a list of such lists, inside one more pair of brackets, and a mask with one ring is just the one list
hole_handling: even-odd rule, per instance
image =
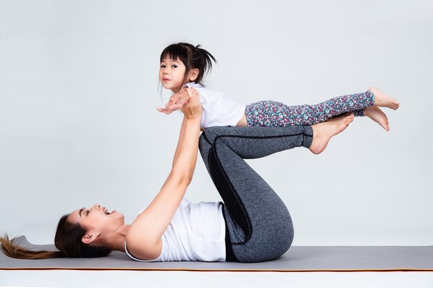
[[48, 259], [48, 258], [93, 258], [104, 257], [111, 253], [108, 247], [94, 246], [82, 242], [86, 234], [80, 224], [66, 220], [68, 215], [63, 215], [57, 224], [54, 243], [59, 251], [33, 251], [15, 244], [15, 238], [9, 240], [7, 234], [0, 237], [1, 249], [6, 256], [19, 259]]

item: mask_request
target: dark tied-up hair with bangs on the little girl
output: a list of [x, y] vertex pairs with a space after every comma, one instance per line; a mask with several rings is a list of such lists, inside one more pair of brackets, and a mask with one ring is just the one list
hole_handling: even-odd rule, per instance
[[200, 48], [200, 45], [193, 46], [188, 43], [176, 43], [167, 46], [161, 53], [160, 61], [163, 61], [165, 58], [174, 60], [180, 59], [185, 65], [184, 84], [189, 81], [189, 79], [187, 79], [188, 72], [195, 68], [199, 69], [199, 75], [194, 82], [203, 84], [201, 80], [203, 76], [212, 69], [212, 60], [216, 63], [215, 57], [213, 57], [210, 52]]

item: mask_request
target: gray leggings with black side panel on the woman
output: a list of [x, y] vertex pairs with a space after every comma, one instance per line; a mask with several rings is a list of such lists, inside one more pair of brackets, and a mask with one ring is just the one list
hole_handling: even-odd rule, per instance
[[243, 159], [308, 148], [312, 141], [311, 126], [210, 127], [202, 133], [201, 157], [224, 201], [228, 261], [273, 260], [293, 241], [286, 205]]

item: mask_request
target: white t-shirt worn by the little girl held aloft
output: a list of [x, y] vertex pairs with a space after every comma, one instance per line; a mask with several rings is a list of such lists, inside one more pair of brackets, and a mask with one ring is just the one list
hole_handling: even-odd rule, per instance
[[215, 92], [203, 87], [201, 84], [190, 82], [182, 88], [194, 88], [200, 93], [201, 106], [201, 129], [212, 126], [236, 126], [243, 117], [246, 105], [239, 104], [232, 97], [224, 93]]

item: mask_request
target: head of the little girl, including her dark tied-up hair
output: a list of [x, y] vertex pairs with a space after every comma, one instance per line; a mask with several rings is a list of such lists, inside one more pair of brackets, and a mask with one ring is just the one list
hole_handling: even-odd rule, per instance
[[160, 55], [159, 79], [164, 88], [177, 92], [184, 84], [202, 84], [216, 59], [210, 52], [187, 43], [167, 46]]

